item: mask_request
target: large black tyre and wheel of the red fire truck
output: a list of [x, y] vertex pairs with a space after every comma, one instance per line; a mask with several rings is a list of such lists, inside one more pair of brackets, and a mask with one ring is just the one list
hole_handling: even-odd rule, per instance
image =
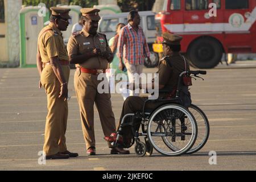
[[192, 65], [200, 69], [214, 68], [221, 61], [222, 47], [213, 38], [195, 40], [188, 49], [188, 57]]

